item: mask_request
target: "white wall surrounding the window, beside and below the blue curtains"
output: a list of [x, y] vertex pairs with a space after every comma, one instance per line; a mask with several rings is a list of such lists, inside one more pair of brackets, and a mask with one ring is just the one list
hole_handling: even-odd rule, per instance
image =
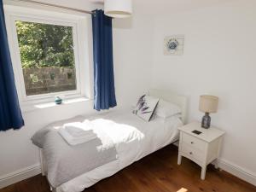
[[[47, 2], [87, 10], [99, 7], [81, 0], [72, 3], [62, 0]], [[137, 15], [130, 20], [113, 20], [113, 60], [119, 108], [131, 105], [149, 87], [152, 61], [147, 56], [149, 51], [145, 51], [151, 50], [148, 43], [150, 33], [144, 35], [144, 30], [148, 27], [146, 23], [148, 19]], [[95, 113], [92, 108], [92, 102], [77, 102], [26, 112], [23, 113], [26, 124], [24, 128], [0, 132], [0, 188], [24, 178], [25, 175], [30, 177], [38, 172], [38, 148], [30, 141], [35, 131], [56, 120]]]

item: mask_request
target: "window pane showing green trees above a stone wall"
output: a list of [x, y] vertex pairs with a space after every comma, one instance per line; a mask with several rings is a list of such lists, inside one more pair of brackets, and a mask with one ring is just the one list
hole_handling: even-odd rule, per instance
[[16, 20], [26, 96], [76, 90], [73, 27]]

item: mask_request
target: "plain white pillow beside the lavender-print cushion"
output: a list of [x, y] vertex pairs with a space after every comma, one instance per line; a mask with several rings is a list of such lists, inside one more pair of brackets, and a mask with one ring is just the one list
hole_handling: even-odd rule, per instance
[[161, 118], [168, 118], [177, 114], [181, 114], [182, 110], [176, 104], [160, 99], [160, 102], [158, 103], [154, 113]]

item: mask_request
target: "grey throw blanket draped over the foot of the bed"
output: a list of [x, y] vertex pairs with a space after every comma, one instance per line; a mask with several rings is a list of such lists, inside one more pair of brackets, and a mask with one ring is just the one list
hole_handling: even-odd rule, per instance
[[[66, 122], [75, 122], [78, 119], [77, 117]], [[66, 143], [56, 128], [49, 125], [32, 137], [32, 142], [43, 148], [51, 186], [58, 187], [84, 172], [117, 159], [116, 148], [111, 138], [103, 131], [104, 127], [94, 128], [96, 139], [75, 146]]]

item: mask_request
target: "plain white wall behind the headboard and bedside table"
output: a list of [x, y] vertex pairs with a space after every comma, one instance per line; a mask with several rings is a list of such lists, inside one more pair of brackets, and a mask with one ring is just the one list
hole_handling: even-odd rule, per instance
[[[154, 19], [153, 87], [189, 96], [189, 121], [201, 120], [199, 96], [219, 96], [212, 125], [226, 131], [221, 159], [256, 184], [256, 3], [237, 1]], [[163, 55], [163, 39], [185, 35], [182, 56]]]

